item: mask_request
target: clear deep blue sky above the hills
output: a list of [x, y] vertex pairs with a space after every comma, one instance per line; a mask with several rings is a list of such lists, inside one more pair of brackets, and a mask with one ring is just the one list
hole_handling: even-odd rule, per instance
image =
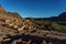
[[48, 18], [66, 12], [66, 0], [0, 0], [0, 4], [23, 18]]

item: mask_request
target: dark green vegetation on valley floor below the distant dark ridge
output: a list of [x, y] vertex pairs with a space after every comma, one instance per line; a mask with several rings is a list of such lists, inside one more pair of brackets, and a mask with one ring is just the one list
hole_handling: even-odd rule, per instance
[[37, 24], [42, 30], [58, 31], [66, 33], [66, 25], [61, 24], [58, 22], [50, 22], [47, 20], [33, 20], [33, 19], [32, 22]]

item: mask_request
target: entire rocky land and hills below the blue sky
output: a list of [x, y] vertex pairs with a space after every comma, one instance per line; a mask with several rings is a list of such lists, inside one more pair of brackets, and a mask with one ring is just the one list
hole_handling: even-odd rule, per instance
[[66, 12], [24, 19], [0, 6], [0, 44], [66, 44]]

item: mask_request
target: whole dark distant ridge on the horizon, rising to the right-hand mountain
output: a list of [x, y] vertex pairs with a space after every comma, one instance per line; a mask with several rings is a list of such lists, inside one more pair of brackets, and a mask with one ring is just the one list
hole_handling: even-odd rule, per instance
[[51, 18], [25, 18], [25, 19], [33, 19], [33, 20], [48, 20], [51, 22], [66, 22], [66, 12], [61, 13], [58, 16], [51, 16]]

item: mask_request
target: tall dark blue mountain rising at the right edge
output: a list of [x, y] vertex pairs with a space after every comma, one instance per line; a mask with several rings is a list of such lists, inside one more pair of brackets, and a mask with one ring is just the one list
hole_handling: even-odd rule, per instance
[[61, 13], [58, 16], [50, 18], [48, 20], [55, 22], [66, 22], [66, 12]]

